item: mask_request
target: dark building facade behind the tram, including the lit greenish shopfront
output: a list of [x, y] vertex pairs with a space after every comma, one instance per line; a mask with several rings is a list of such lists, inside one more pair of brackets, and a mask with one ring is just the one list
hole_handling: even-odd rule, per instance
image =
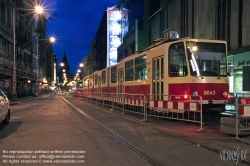
[[[123, 1], [121, 1], [122, 3]], [[132, 3], [127, 0], [125, 3]], [[133, 8], [128, 8], [128, 18]], [[138, 5], [137, 5], [138, 6]], [[118, 60], [162, 38], [164, 30], [177, 30], [180, 37], [225, 40], [231, 72], [230, 92], [242, 90], [242, 66], [250, 65], [250, 15], [248, 0], [149, 0], [143, 1], [143, 15], [134, 17], [138, 26], [129, 27], [118, 48]], [[129, 19], [129, 23], [135, 21]], [[142, 25], [142, 27], [140, 27]], [[136, 35], [138, 31], [138, 37]], [[240, 65], [239, 65], [240, 64]]]

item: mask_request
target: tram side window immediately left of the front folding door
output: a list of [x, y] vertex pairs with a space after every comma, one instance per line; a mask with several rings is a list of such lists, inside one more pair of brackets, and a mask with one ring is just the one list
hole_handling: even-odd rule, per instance
[[147, 56], [143, 55], [135, 59], [135, 80], [145, 80], [147, 78], [146, 67]]

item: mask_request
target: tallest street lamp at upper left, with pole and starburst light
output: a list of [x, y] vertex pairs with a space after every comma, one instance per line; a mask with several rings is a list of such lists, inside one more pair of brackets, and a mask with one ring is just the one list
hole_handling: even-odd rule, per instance
[[[27, 10], [24, 8], [12, 7], [12, 29], [13, 29], [13, 86], [12, 86], [12, 100], [16, 100], [17, 92], [16, 92], [16, 11], [17, 10]], [[43, 8], [40, 5], [35, 6], [35, 13], [41, 14], [43, 13]]]

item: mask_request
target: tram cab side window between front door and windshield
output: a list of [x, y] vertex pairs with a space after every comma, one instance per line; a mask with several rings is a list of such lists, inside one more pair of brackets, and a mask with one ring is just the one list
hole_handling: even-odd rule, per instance
[[183, 42], [170, 45], [168, 55], [169, 77], [187, 76], [187, 63]]

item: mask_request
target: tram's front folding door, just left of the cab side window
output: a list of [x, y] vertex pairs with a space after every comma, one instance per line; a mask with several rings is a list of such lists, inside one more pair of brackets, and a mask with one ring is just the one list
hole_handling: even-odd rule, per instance
[[163, 76], [164, 76], [164, 58], [159, 56], [152, 59], [152, 74], [153, 74], [153, 86], [152, 95], [154, 100], [163, 100]]

